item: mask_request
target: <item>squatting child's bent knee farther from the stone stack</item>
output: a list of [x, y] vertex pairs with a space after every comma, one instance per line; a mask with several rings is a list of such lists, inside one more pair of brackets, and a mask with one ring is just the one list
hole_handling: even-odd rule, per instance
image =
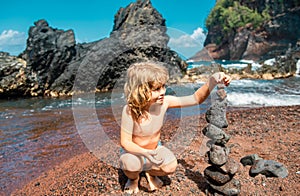
[[141, 162], [141, 158], [126, 153], [120, 157], [120, 167], [122, 170], [136, 172], [143, 169], [143, 164]]

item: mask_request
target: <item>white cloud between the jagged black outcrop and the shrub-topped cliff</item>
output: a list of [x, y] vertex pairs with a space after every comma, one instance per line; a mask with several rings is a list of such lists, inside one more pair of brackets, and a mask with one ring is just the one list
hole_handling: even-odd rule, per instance
[[[174, 30], [172, 30], [174, 31]], [[191, 57], [203, 48], [206, 34], [202, 28], [197, 28], [190, 34], [171, 32], [169, 47], [184, 57]]]

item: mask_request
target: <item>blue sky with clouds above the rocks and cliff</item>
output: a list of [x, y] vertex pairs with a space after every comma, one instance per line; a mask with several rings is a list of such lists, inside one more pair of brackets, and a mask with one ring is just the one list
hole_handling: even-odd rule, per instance
[[[34, 22], [45, 19], [52, 28], [75, 33], [78, 43], [108, 37], [114, 16], [121, 7], [135, 0], [10, 0], [1, 2], [0, 51], [18, 55], [26, 47], [28, 30]], [[215, 0], [151, 0], [166, 19], [169, 46], [192, 56], [205, 40], [205, 19]]]

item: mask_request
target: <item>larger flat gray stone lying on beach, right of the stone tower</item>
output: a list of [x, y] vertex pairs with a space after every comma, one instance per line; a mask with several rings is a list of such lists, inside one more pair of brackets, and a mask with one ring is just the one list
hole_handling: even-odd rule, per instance
[[250, 176], [254, 177], [258, 174], [265, 175], [267, 177], [281, 177], [288, 176], [287, 168], [282, 164], [273, 160], [258, 160], [256, 161], [249, 171]]

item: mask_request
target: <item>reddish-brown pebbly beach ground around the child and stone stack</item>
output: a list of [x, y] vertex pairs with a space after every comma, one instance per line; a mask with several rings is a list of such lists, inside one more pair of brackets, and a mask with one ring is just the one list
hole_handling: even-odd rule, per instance
[[[240, 167], [237, 179], [242, 184], [241, 195], [299, 195], [300, 170], [299, 137], [300, 105], [268, 106], [259, 108], [230, 109], [227, 112], [228, 128], [232, 136], [231, 156], [236, 161], [249, 154], [283, 163], [287, 178], [250, 177], [249, 166]], [[199, 124], [197, 124], [199, 123]], [[203, 115], [184, 118], [184, 125], [201, 130], [206, 125]], [[178, 122], [166, 122], [162, 130], [162, 142], [172, 138], [172, 130]], [[167, 195], [171, 193], [205, 195], [207, 184], [203, 170], [208, 166], [199, 154], [203, 147], [203, 135], [198, 132], [185, 151], [177, 156], [176, 172], [162, 177], [164, 186], [154, 193], [147, 191], [145, 178], [141, 179], [140, 194]], [[126, 177], [118, 168], [105, 164], [93, 154], [86, 152], [74, 156], [42, 173], [12, 195], [122, 195]]]

